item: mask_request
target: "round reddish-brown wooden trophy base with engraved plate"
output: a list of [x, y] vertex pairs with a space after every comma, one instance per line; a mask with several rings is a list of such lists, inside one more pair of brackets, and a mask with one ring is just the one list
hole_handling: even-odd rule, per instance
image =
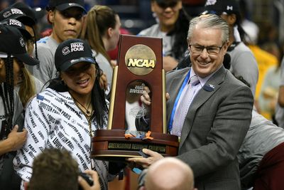
[[93, 159], [111, 162], [125, 162], [127, 158], [142, 157], [141, 149], [151, 149], [164, 157], [178, 155], [178, 136], [151, 132], [153, 139], [124, 137], [124, 130], [97, 130], [92, 138]]

